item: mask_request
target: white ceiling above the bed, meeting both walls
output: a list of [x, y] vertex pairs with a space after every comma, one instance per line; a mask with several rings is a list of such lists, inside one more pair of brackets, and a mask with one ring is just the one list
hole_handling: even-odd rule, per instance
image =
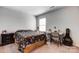
[[31, 15], [40, 15], [50, 10], [59, 8], [58, 6], [6, 6], [6, 8], [21, 11]]

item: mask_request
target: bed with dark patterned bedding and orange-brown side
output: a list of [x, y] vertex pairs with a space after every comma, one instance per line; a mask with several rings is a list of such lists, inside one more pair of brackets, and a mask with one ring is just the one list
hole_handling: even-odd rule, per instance
[[18, 30], [15, 32], [15, 42], [18, 44], [19, 51], [28, 53], [44, 45], [46, 35], [32, 30]]

